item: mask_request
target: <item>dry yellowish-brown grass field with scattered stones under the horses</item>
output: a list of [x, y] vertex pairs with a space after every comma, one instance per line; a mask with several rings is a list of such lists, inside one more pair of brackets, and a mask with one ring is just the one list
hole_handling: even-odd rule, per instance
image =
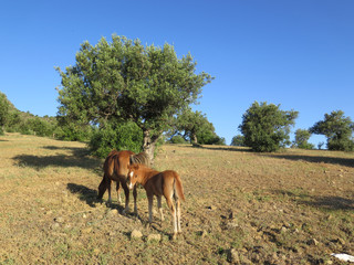
[[163, 146], [155, 168], [176, 170], [186, 195], [176, 241], [165, 201], [165, 222], [155, 211], [147, 225], [143, 189], [140, 219], [121, 214], [115, 191], [112, 205], [96, 201], [102, 163], [81, 142], [1, 136], [0, 264], [345, 264], [331, 253], [354, 255], [354, 153]]

